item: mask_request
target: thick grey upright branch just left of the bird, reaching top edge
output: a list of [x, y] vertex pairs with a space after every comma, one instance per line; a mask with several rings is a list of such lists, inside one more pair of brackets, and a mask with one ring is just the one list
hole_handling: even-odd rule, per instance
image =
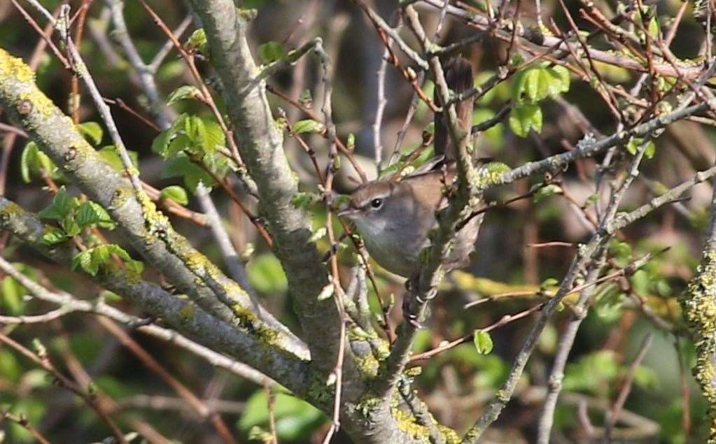
[[230, 0], [192, 0], [191, 4], [204, 26], [239, 151], [256, 181], [260, 210], [269, 222], [274, 252], [289, 279], [311, 358], [327, 374], [337, 357], [338, 312], [332, 300], [316, 300], [328, 279], [316, 246], [309, 241], [309, 218], [291, 203], [298, 183], [286, 161], [283, 134], [271, 115], [266, 84], [259, 79], [259, 68], [246, 41], [246, 19]]

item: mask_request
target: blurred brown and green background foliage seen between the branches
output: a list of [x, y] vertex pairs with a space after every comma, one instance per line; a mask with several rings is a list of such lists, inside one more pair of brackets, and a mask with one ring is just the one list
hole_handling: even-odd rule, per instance
[[[44, 0], [42, 3], [52, 10], [60, 2]], [[395, 3], [374, 1], [374, 7], [387, 17], [395, 9]], [[529, 24], [533, 21], [533, 6], [524, 3], [521, 18]], [[575, 6], [569, 3], [570, 7]], [[613, 1], [601, 3], [616, 5]], [[179, 24], [187, 14], [181, 2], [154, 0], [150, 4], [170, 26]], [[662, 24], [668, 23], [680, 6], [676, 0], [649, 4], [657, 6]], [[383, 49], [362, 11], [349, 1], [253, 0], [244, 1], [242, 6], [258, 10], [251, 25], [251, 37], [254, 54], [261, 56], [264, 61], [272, 59], [276, 51], [296, 48], [314, 36], [324, 38], [336, 66], [333, 102], [339, 137], [342, 140], [354, 138], [356, 152], [364, 156], [362, 162], [366, 171], [374, 174], [370, 160], [373, 155], [371, 124], [377, 107], [376, 72]], [[543, 14], [553, 16], [558, 24], [563, 25], [562, 15], [551, 12], [558, 11], [556, 1], [543, 1], [542, 8]], [[425, 18], [428, 26], [431, 21], [435, 23], [435, 14], [425, 14]], [[135, 1], [126, 1], [125, 19], [142, 58], [145, 61], [151, 60], [165, 44], [165, 36]], [[586, 27], [586, 24], [580, 23], [580, 26]], [[456, 41], [467, 35], [467, 32], [459, 24], [449, 22], [442, 40]], [[190, 31], [186, 32], [182, 40], [189, 35]], [[689, 9], [672, 46], [674, 54], [682, 58], [695, 56], [696, 45], [692, 42], [700, 41], [701, 38], [700, 27], [692, 19]], [[37, 40], [37, 34], [12, 4], [9, 1], [2, 2], [0, 46], [11, 54], [27, 59]], [[81, 45], [89, 70], [105, 97], [121, 99], [132, 109], [148, 115], [146, 98], [128, 81], [127, 62], [121, 55], [118, 59], [108, 56], [103, 44], [117, 51], [102, 1], [94, 1], [89, 7], [87, 31]], [[464, 52], [475, 67], [476, 85], [482, 84], [493, 74], [504, 53], [505, 47], [490, 39], [484, 39]], [[612, 84], [622, 84], [628, 89], [636, 81], [635, 75], [625, 69], [606, 64], [599, 66], [601, 74]], [[200, 62], [200, 69], [211, 82], [213, 77], [208, 64]], [[306, 107], [317, 110], [319, 107], [316, 104], [322, 100], [322, 92], [317, 87], [319, 69], [313, 60], [302, 59], [294, 69], [281, 71], [269, 79], [269, 84], [289, 97], [300, 99]], [[170, 97], [178, 88], [191, 84], [185, 64], [175, 51], [160, 66], [156, 77], [163, 97]], [[42, 56], [37, 68], [37, 82], [63, 109], [68, 109], [70, 81], [71, 74], [62, 68], [51, 53]], [[478, 101], [474, 114], [475, 124], [494, 117], [505, 101], [513, 98], [513, 82], [514, 79], [503, 82]], [[430, 88], [428, 82], [425, 90], [430, 92]], [[410, 87], [392, 66], [388, 66], [388, 102], [382, 131], [382, 143], [386, 147], [384, 159], [390, 158], [411, 95]], [[219, 97], [218, 94], [216, 97]], [[278, 117], [279, 108], [284, 109], [289, 124], [308, 119], [280, 97], [271, 95], [270, 99], [274, 115]], [[609, 113], [589, 84], [571, 79], [569, 91], [564, 92], [559, 100], [574, 104], [604, 134], [614, 131]], [[177, 122], [180, 119], [200, 117], [208, 128], [205, 131], [211, 132], [211, 128], [216, 126], [211, 113], [197, 101], [178, 99], [172, 107], [180, 115]], [[220, 107], [223, 107], [221, 103]], [[99, 122], [99, 118], [85, 95], [82, 96], [79, 112], [81, 121], [87, 125], [91, 142], [97, 149], [106, 147], [110, 141], [103, 134], [102, 128], [97, 129], [96, 125], [89, 124]], [[558, 100], [542, 102], [541, 113], [539, 134], [531, 132], [521, 134], [526, 137], [519, 137], [506, 120], [480, 134], [477, 139], [480, 154], [516, 166], [562, 152], [581, 139], [582, 129]], [[158, 189], [170, 186], [188, 189], [186, 193], [183, 189], [173, 188], [167, 195], [198, 211], [192, 189], [198, 179], [211, 183], [205, 172], [193, 168], [191, 164], [176, 162], [171, 152], [167, 152], [171, 147], [163, 146], [162, 141], [157, 139], [158, 132], [132, 114], [117, 107], [113, 108], [113, 114], [127, 147], [136, 153], [142, 178]], [[421, 103], [408, 128], [405, 142], [400, 147], [400, 154], [410, 153], [420, 146], [420, 134], [430, 122], [432, 113]], [[206, 136], [203, 133], [202, 137], [211, 137], [211, 134]], [[304, 137], [314, 147], [319, 159], [325, 159], [324, 140], [310, 132], [304, 134]], [[203, 139], [199, 137], [184, 143], [201, 144]], [[695, 171], [710, 167], [714, 162], [713, 143], [714, 132], [705, 126], [678, 122], [669, 127], [664, 136], [657, 140], [653, 158], [644, 164], [640, 182], [627, 196], [623, 209], [633, 209], [645, 199], [658, 194], [659, 189], [673, 186], [691, 177]], [[6, 196], [26, 208], [39, 211], [52, 201], [52, 197], [42, 189], [42, 181], [37, 174], [45, 160], [25, 144], [24, 139], [18, 139], [11, 153]], [[286, 152], [301, 178], [304, 191], [316, 192], [316, 180], [311, 174], [309, 159], [295, 139], [288, 135]], [[113, 151], [110, 149], [107, 153], [111, 157]], [[169, 162], [165, 162], [157, 153], [165, 154]], [[346, 170], [349, 169], [347, 163], [343, 162]], [[23, 172], [23, 167], [26, 172]], [[221, 164], [213, 164], [212, 168], [226, 172], [226, 167]], [[468, 335], [476, 328], [500, 320], [503, 315], [525, 310], [533, 305], [535, 297], [541, 296], [500, 297], [465, 310], [463, 306], [467, 302], [505, 292], [536, 292], [541, 285], [545, 288], [555, 285], [554, 278], [560, 278], [565, 272], [575, 246], [588, 233], [586, 226], [589, 222], [579, 217], [574, 202], [586, 208], [594, 204], [594, 201], [590, 202], [589, 187], [579, 177], [581, 174], [594, 174], [595, 168], [591, 160], [576, 162], [574, 168], [558, 178], [558, 187], [552, 192], [544, 192], [533, 200], [522, 200], [509, 207], [498, 207], [488, 212], [473, 265], [468, 270], [453, 273], [446, 280], [443, 295], [432, 306], [430, 329], [421, 330], [415, 342], [416, 352], [429, 350], [444, 340]], [[340, 177], [339, 186], [343, 192], [354, 187], [355, 182], [349, 176], [344, 174]], [[65, 184], [69, 194], [77, 195], [77, 189], [67, 183], [59, 172], [53, 172], [52, 177], [57, 184]], [[506, 199], [522, 194], [538, 181], [539, 178], [533, 178], [531, 183], [520, 182], [511, 189], [499, 190], [497, 197]], [[251, 284], [266, 306], [297, 331], [298, 325], [291, 313], [291, 299], [287, 294], [286, 277], [278, 260], [256, 237], [251, 224], [221, 189], [212, 195], [231, 227], [232, 241], [246, 257]], [[580, 400], [589, 400], [590, 406], [601, 403], [609, 405], [614, 400], [629, 362], [636, 355], [644, 335], [649, 332], [653, 333], [653, 342], [637, 368], [634, 388], [625, 408], [646, 423], [656, 423], [659, 432], [655, 436], [634, 440], [679, 444], [697, 443], [704, 439], [706, 406], [688, 370], [694, 360], [693, 347], [685, 335], [675, 298], [684, 289], [697, 265], [709, 199], [710, 187], [699, 185], [692, 190], [687, 202], [661, 209], [622, 230], [619, 240], [611, 246], [609, 260], [614, 270], [625, 267], [648, 252], [660, 252], [664, 247], [670, 247], [670, 250], [654, 257], [646, 267], [628, 279], [599, 286], [593, 310], [589, 311], [581, 327], [566, 367], [563, 390], [583, 398], [569, 398], [565, 395], [561, 399], [556, 418], [557, 438], [561, 442], [571, 442], [583, 425], [584, 418], [579, 417]], [[311, 209], [314, 207], [310, 203], [307, 206]], [[319, 206], [315, 205], [314, 211], [316, 238], [320, 247], [326, 250], [328, 242], [325, 234], [318, 231], [325, 219], [324, 211], [317, 209]], [[221, 264], [221, 255], [207, 229], [197, 229], [185, 219], [174, 218], [173, 222], [195, 247]], [[107, 235], [112, 242], [127, 247], [112, 232]], [[531, 244], [553, 241], [569, 242], [572, 246], [529, 247]], [[92, 299], [100, 292], [81, 275], [46, 262], [14, 240], [5, 245], [3, 255], [21, 262], [21, 270], [33, 279], [47, 280], [52, 286], [78, 297]], [[352, 247], [346, 247], [341, 252], [341, 258], [347, 265], [354, 260], [353, 256]], [[348, 267], [345, 268], [347, 270]], [[400, 297], [402, 294], [402, 283], [380, 270], [377, 282], [382, 295]], [[377, 307], [379, 302], [372, 287], [371, 292], [372, 303]], [[0, 279], [0, 293], [0, 312], [4, 315], [42, 312], [44, 307], [36, 300], [26, 298], [24, 288], [8, 276]], [[105, 300], [123, 310], [132, 311], [116, 295], [104, 296]], [[529, 442], [531, 428], [541, 405], [538, 388], [547, 383], [546, 375], [556, 349], [558, 333], [569, 319], [569, 298], [565, 305], [566, 309], [553, 319], [541, 336], [538, 350], [529, 362], [516, 399], [508, 405], [508, 410], [496, 423], [500, 434], [490, 439]], [[650, 314], [645, 315], [645, 310]], [[415, 375], [417, 388], [438, 420], [458, 429], [464, 429], [474, 420], [480, 405], [489, 400], [503, 383], [511, 360], [528, 332], [529, 319], [511, 322], [491, 332], [494, 349], [488, 354], [479, 354], [473, 344], [466, 343], [420, 362], [422, 372]], [[181, 403], [170, 403], [169, 400], [175, 399], [172, 390], [144, 367], [135, 355], [122, 347], [115, 337], [103, 330], [92, 316], [67, 315], [42, 328], [33, 325], [2, 328], [12, 332], [16, 340], [25, 344], [38, 338], [62, 370], [71, 371], [69, 369], [76, 360], [92, 378], [92, 384], [117, 401], [119, 411], [115, 416], [120, 418], [120, 423], [128, 418], [142, 418], [160, 433], [178, 442], [218, 442], [216, 434], [205, 420], [198, 418]], [[200, 398], [213, 402], [212, 405], [226, 418], [241, 440], [266, 439], [269, 430], [269, 395], [264, 388], [216, 370], [198, 357], [158, 340], [143, 335], [133, 336]], [[271, 398], [276, 430], [282, 443], [319, 442], [328, 427], [324, 415], [280, 391], [273, 393]], [[25, 415], [53, 442], [79, 443], [103, 438], [102, 424], [94, 413], [82, 408], [72, 395], [53, 385], [52, 379], [43, 370], [38, 370], [31, 362], [7, 348], [0, 348], [0, 405], [13, 413]], [[601, 425], [604, 408], [590, 408], [589, 418], [595, 425]], [[639, 424], [634, 427], [638, 429]], [[25, 430], [11, 423], [1, 423], [0, 430], [6, 442], [32, 441]], [[345, 441], [347, 438], [341, 435], [337, 438], [339, 440]]]

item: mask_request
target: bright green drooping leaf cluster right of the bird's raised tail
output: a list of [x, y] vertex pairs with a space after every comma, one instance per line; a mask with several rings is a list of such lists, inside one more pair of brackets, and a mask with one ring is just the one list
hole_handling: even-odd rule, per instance
[[569, 91], [569, 71], [563, 66], [539, 64], [519, 71], [512, 84], [513, 105], [508, 120], [519, 137], [530, 130], [542, 131], [542, 110], [539, 102]]

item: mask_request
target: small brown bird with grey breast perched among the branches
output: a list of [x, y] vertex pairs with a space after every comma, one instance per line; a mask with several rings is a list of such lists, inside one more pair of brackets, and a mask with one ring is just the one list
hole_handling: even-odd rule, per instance
[[[445, 66], [445, 81], [456, 94], [473, 87], [473, 69], [463, 58]], [[455, 105], [460, 127], [470, 134], [473, 99]], [[404, 277], [418, 271], [420, 250], [430, 241], [427, 234], [437, 227], [435, 212], [448, 204], [443, 195], [453, 183], [455, 147], [442, 113], [435, 114], [435, 154], [445, 162], [428, 162], [432, 170], [400, 179], [380, 179], [358, 187], [350, 202], [338, 214], [352, 220], [374, 260], [386, 270]], [[445, 170], [441, 167], [446, 165]], [[475, 247], [482, 215], [470, 219], [455, 236], [455, 244], [443, 266], [450, 270], [465, 267]]]

